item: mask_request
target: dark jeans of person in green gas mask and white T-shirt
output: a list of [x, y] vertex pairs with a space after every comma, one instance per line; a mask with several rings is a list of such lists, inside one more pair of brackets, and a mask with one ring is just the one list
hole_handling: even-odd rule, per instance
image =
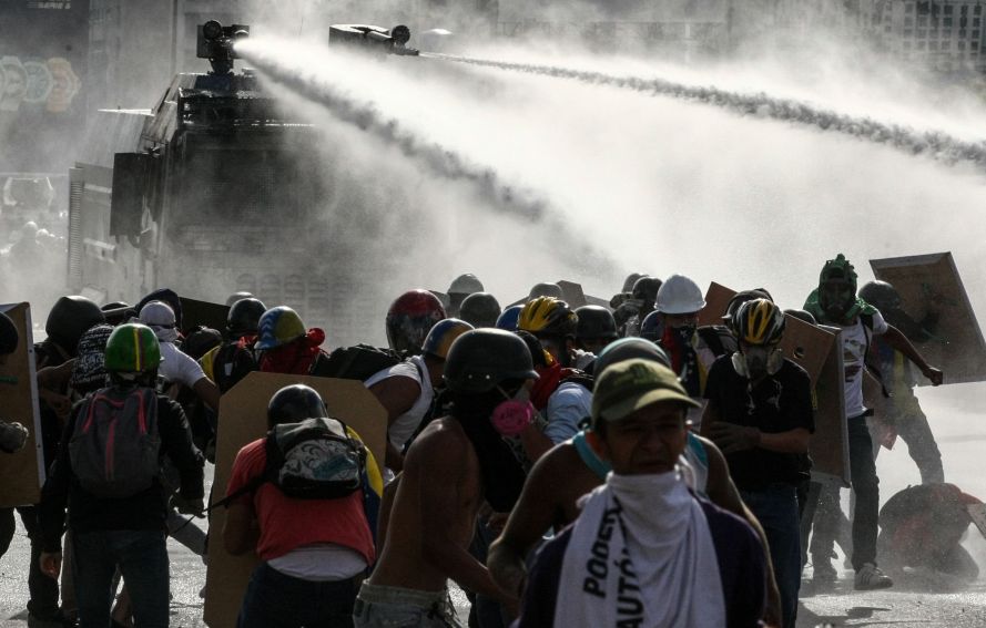
[[880, 478], [873, 459], [873, 440], [865, 416], [848, 420], [850, 474], [856, 505], [853, 511], [853, 569], [876, 564], [876, 533], [880, 516]]

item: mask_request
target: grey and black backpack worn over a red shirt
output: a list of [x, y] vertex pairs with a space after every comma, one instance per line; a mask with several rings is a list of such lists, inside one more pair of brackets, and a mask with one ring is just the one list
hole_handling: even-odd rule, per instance
[[267, 482], [295, 500], [335, 500], [363, 486], [366, 450], [337, 419], [275, 425], [267, 432], [264, 451], [264, 471], [210, 509], [253, 493]]

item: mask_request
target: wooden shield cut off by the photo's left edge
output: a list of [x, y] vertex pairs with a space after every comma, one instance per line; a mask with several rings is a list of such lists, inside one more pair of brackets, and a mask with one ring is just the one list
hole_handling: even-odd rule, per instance
[[0, 366], [0, 419], [17, 421], [30, 431], [24, 449], [0, 452], [0, 507], [23, 506], [41, 501], [44, 462], [41, 455], [41, 412], [38, 408], [38, 380], [34, 372], [34, 339], [31, 334], [31, 306], [2, 305], [20, 341], [17, 351]]

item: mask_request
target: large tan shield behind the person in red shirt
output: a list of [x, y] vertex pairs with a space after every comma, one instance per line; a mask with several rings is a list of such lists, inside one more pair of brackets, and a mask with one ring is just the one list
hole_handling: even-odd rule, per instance
[[[267, 402], [282, 388], [303, 383], [322, 395], [328, 413], [356, 430], [374, 457], [383, 464], [386, 449], [387, 412], [356, 380], [253, 372], [223, 395], [220, 402], [213, 502], [226, 492], [233, 461], [243, 445], [267, 432]], [[243, 594], [254, 567], [255, 554], [232, 556], [223, 545], [225, 508], [216, 508], [209, 522], [209, 570], [205, 578], [205, 624], [233, 628]]]

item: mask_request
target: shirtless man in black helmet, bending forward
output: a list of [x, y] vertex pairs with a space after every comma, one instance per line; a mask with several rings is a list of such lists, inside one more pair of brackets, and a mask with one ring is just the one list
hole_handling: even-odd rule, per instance
[[484, 501], [508, 512], [520, 494], [524, 471], [490, 416], [524, 399], [535, 378], [527, 344], [512, 333], [479, 329], [453, 343], [445, 380], [455, 410], [407, 452], [380, 558], [356, 600], [357, 627], [458, 626], [449, 578], [516, 615], [517, 594], [497, 586], [468, 547]]

